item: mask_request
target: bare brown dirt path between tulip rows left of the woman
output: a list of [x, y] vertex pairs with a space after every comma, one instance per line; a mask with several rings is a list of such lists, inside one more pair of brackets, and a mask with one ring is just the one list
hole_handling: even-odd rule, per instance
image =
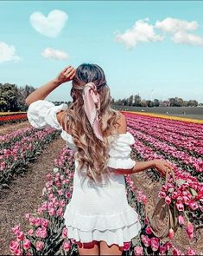
[[[19, 128], [19, 126], [17, 127]], [[15, 128], [15, 130], [17, 129]], [[54, 159], [64, 148], [65, 141], [61, 137], [52, 141], [44, 149], [35, 163], [30, 163], [28, 173], [17, 177], [10, 184], [10, 190], [1, 191], [0, 198], [0, 254], [9, 255], [10, 240], [15, 240], [11, 227], [22, 226], [22, 231], [28, 230], [29, 222], [24, 218], [25, 213], [36, 213], [42, 203], [41, 192], [46, 183], [46, 174], [54, 167]]]

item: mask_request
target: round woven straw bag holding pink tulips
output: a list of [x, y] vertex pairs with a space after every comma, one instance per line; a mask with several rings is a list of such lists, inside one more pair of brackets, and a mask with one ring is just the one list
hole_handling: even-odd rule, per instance
[[[170, 169], [168, 167], [166, 168], [165, 185], [168, 184], [168, 172], [170, 172]], [[170, 174], [172, 174], [175, 186], [176, 181], [174, 178], [174, 173], [170, 172]], [[151, 193], [145, 206], [145, 213], [151, 231], [155, 234], [155, 236], [158, 238], [166, 238], [168, 237], [168, 232], [170, 228], [173, 228], [174, 232], [177, 230], [178, 211], [173, 200], [168, 205], [165, 202], [164, 198], [160, 198], [158, 196], [159, 192], [162, 189], [161, 181], [162, 177], [160, 178], [160, 181], [156, 186], [154, 184], [149, 186], [149, 188], [151, 188]]]

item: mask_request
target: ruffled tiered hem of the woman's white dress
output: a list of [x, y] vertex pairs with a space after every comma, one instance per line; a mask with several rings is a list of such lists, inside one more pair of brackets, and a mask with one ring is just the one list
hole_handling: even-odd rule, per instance
[[130, 206], [120, 213], [89, 216], [69, 207], [70, 203], [64, 214], [67, 236], [78, 243], [105, 240], [108, 246], [124, 246], [124, 242], [129, 242], [141, 229], [138, 214]]

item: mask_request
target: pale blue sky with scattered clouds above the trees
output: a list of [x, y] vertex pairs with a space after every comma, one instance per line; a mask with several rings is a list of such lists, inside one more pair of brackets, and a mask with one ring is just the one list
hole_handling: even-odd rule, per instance
[[[203, 102], [202, 10], [200, 1], [2, 1], [0, 82], [39, 88], [69, 64], [92, 62], [115, 99]], [[70, 89], [47, 100], [71, 101]]]

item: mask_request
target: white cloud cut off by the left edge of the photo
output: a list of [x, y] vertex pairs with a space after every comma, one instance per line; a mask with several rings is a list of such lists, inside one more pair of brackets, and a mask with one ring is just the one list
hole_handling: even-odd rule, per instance
[[17, 62], [21, 58], [16, 56], [16, 48], [13, 45], [0, 42], [0, 62]]

